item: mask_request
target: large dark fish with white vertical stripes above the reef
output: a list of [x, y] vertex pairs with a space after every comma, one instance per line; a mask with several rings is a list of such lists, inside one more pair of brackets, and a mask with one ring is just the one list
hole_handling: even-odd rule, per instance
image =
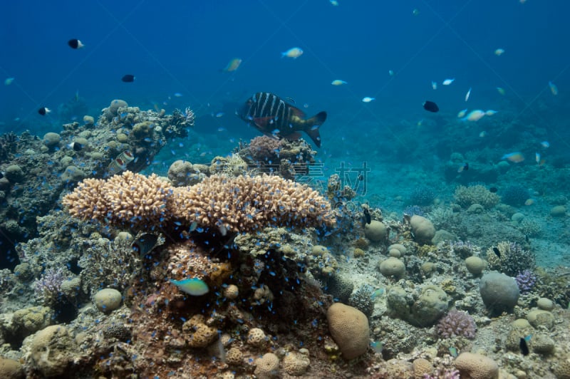
[[326, 112], [306, 118], [302, 110], [279, 96], [269, 92], [258, 92], [246, 101], [237, 111], [237, 115], [266, 135], [296, 140], [301, 137], [299, 132], [305, 132], [317, 147], [321, 147], [318, 127], [325, 122]]

